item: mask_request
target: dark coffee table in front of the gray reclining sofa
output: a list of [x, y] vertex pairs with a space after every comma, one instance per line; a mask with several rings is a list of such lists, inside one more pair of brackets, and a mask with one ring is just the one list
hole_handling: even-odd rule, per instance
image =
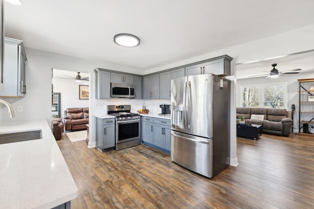
[[262, 135], [263, 127], [258, 124], [236, 124], [236, 136], [248, 139], [259, 139]]

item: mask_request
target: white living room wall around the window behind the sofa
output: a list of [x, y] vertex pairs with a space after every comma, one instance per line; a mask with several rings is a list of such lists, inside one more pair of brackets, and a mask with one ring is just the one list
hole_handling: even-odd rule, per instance
[[[293, 132], [299, 131], [299, 82], [298, 79], [309, 79], [314, 78], [314, 72], [299, 73], [299, 74], [285, 74], [280, 75], [278, 78], [249, 78], [237, 80], [236, 84], [236, 106], [240, 107], [240, 86], [243, 85], [259, 85], [259, 84], [270, 84], [270, 83], [282, 83], [288, 82], [288, 107], [287, 110], [291, 111], [291, 105], [295, 105], [295, 111], [293, 114]], [[302, 111], [302, 110], [301, 110]], [[310, 118], [311, 119], [311, 118]]]

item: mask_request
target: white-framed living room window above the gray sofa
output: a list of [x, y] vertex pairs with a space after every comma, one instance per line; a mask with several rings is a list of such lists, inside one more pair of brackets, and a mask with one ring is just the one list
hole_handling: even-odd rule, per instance
[[240, 107], [287, 109], [288, 83], [240, 86]]

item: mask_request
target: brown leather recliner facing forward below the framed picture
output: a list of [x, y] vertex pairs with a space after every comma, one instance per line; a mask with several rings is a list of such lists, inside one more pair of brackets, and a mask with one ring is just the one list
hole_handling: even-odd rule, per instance
[[85, 130], [89, 122], [88, 110], [88, 108], [67, 108], [64, 111], [65, 130]]

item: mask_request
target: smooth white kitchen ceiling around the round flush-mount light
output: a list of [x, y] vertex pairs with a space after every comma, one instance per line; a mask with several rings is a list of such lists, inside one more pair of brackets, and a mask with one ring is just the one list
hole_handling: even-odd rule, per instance
[[[314, 24], [314, 0], [22, 1], [4, 5], [6, 37], [143, 72]], [[134, 34], [141, 44], [117, 46], [118, 33]]]

